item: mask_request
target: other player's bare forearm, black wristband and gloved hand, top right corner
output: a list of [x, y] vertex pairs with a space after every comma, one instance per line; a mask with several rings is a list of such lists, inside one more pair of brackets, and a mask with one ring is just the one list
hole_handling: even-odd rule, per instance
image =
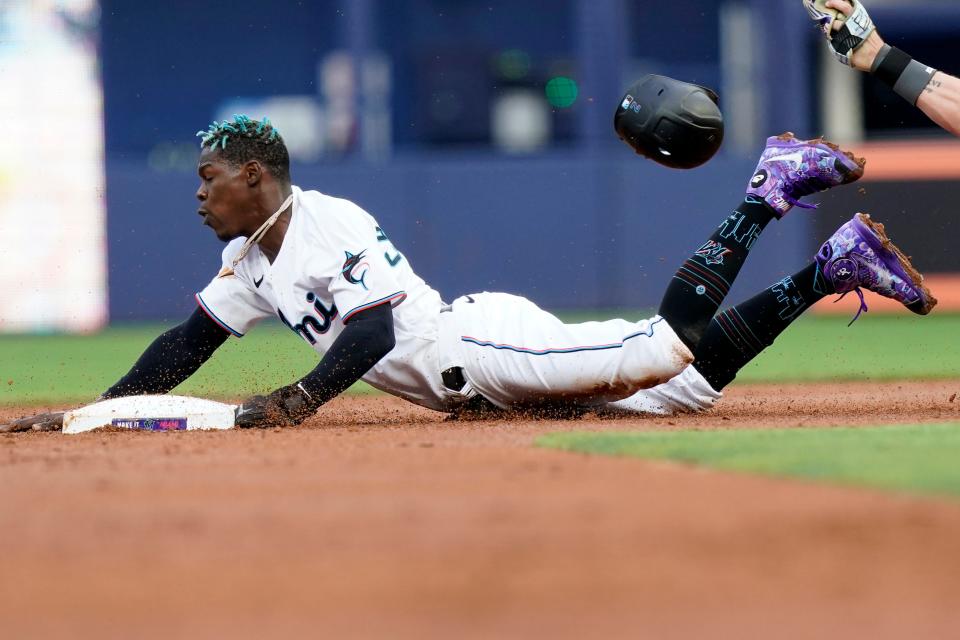
[[842, 14], [842, 19], [835, 20], [822, 12], [820, 2], [823, 0], [803, 0], [841, 62], [876, 76], [945, 130], [960, 136], [960, 79], [886, 44], [861, 0], [823, 2]]

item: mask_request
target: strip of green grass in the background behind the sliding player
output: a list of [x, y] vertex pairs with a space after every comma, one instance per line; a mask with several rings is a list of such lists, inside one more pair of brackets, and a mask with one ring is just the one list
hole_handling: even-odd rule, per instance
[[[642, 313], [564, 314], [571, 322]], [[743, 382], [960, 378], [960, 316], [805, 317], [739, 375]], [[165, 327], [111, 327], [91, 336], [0, 336], [0, 405], [79, 402], [126, 373]], [[317, 356], [276, 323], [231, 339], [178, 392], [236, 398], [287, 384]], [[357, 385], [354, 391], [369, 390]]]

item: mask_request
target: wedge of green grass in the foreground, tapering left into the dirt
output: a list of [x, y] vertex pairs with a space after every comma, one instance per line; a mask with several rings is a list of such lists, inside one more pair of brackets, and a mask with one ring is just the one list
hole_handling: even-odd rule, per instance
[[838, 429], [560, 433], [537, 445], [960, 496], [960, 423]]

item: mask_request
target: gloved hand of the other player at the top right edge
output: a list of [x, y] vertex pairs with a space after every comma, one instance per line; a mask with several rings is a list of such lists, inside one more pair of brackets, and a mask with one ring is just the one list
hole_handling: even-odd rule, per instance
[[[845, 65], [869, 71], [883, 40], [861, 0], [803, 0], [803, 6]], [[824, 7], [839, 12], [836, 18]]]

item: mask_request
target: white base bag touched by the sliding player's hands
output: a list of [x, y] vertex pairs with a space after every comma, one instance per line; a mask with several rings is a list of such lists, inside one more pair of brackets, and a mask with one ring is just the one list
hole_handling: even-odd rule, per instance
[[236, 405], [187, 396], [126, 396], [102, 400], [63, 414], [64, 433], [100, 427], [141, 431], [232, 429]]

